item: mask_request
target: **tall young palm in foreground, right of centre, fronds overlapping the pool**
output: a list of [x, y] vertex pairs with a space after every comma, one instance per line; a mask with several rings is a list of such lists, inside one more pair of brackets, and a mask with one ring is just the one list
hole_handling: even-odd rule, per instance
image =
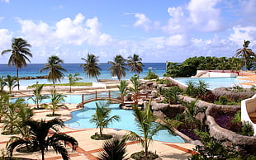
[[153, 136], [157, 134], [159, 129], [163, 129], [164, 127], [159, 123], [155, 123], [156, 116], [153, 115], [150, 109], [150, 101], [148, 105], [145, 106], [145, 111], [140, 111], [138, 106], [132, 106], [135, 119], [140, 130], [140, 134], [136, 134], [135, 132], [130, 131], [126, 134], [126, 139], [130, 140], [138, 140], [140, 144], [144, 148], [145, 159], [149, 158], [149, 144], [153, 141]]

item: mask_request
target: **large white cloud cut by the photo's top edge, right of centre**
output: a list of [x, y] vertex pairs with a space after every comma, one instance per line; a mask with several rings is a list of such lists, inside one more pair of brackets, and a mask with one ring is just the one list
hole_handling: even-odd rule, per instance
[[190, 21], [198, 31], [220, 31], [220, 9], [216, 5], [220, 0], [191, 0], [187, 10], [190, 13]]

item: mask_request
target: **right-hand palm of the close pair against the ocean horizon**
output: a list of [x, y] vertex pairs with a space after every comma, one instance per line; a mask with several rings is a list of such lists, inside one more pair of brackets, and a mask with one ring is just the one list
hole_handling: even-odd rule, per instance
[[128, 57], [127, 66], [130, 67], [130, 72], [140, 74], [143, 71], [144, 64], [142, 64], [141, 60], [137, 54]]

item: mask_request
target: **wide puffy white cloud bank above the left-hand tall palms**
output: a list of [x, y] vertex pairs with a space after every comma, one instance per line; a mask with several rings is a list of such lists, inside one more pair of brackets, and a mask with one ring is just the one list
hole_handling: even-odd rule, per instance
[[97, 17], [85, 20], [79, 13], [72, 20], [69, 17], [57, 21], [55, 26], [49, 26], [44, 21], [21, 20], [21, 33], [31, 41], [31, 45], [92, 45], [103, 46], [111, 43], [111, 35], [101, 33], [101, 24]]

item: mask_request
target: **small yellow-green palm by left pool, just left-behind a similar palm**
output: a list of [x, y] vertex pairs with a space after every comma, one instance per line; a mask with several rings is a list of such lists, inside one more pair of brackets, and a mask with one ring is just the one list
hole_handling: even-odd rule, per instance
[[34, 101], [34, 103], [36, 104], [37, 109], [40, 108], [40, 102], [43, 101], [44, 99], [49, 98], [49, 96], [47, 95], [42, 95], [41, 92], [43, 90], [44, 84], [38, 84], [38, 82], [36, 82], [36, 87], [35, 89], [33, 89], [33, 95], [29, 97], [28, 99], [31, 99], [32, 101]]

